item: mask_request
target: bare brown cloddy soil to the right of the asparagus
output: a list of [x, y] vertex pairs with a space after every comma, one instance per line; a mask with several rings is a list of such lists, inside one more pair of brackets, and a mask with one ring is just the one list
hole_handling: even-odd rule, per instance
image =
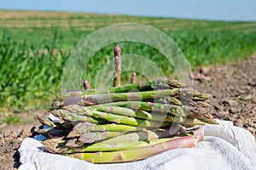
[[256, 138], [256, 56], [236, 64], [212, 65], [195, 71], [194, 87], [212, 94], [212, 113], [244, 127]]

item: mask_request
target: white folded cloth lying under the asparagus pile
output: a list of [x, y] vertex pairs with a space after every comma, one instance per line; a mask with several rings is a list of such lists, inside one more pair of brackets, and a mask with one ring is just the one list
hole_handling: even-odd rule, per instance
[[195, 148], [167, 150], [143, 161], [92, 164], [68, 156], [44, 152], [40, 141], [27, 138], [20, 145], [19, 170], [161, 170], [161, 169], [256, 169], [253, 135], [232, 122], [218, 121], [204, 127], [205, 139]]

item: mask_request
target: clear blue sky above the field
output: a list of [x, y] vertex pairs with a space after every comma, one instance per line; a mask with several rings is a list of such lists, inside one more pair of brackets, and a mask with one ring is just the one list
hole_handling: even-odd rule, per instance
[[0, 8], [256, 20], [256, 0], [0, 0]]

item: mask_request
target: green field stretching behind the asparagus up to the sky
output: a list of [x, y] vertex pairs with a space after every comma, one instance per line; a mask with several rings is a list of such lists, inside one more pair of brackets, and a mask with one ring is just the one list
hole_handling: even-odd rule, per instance
[[[173, 38], [192, 67], [256, 54], [256, 22], [183, 20], [109, 14], [0, 11], [0, 112], [45, 108], [60, 90], [70, 50], [91, 31], [118, 23], [154, 26]], [[111, 44], [98, 51], [84, 71], [91, 85], [97, 71], [113, 59]], [[172, 72], [157, 50], [120, 42], [122, 54], [147, 54]], [[123, 75], [123, 82], [130, 73]], [[81, 80], [82, 81], [82, 80]]]

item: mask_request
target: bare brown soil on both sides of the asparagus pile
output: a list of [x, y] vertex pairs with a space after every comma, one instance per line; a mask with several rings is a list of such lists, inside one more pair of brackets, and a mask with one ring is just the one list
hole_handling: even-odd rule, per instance
[[[201, 67], [195, 71], [193, 84], [199, 91], [212, 94], [212, 113], [215, 116], [246, 128], [256, 137], [255, 65], [256, 56], [252, 56], [236, 64]], [[39, 112], [45, 113], [44, 110]], [[26, 120], [33, 117], [27, 113], [22, 115]], [[0, 169], [19, 167], [17, 149], [38, 126], [34, 119], [22, 125], [0, 125]]]

